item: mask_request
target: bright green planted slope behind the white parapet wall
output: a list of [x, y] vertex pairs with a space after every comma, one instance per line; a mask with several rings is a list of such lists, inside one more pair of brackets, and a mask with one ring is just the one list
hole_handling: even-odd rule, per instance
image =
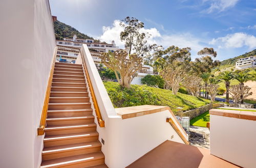
[[177, 107], [183, 107], [183, 110], [189, 110], [210, 102], [206, 99], [181, 93], [175, 96], [170, 90], [152, 88], [145, 85], [132, 85], [132, 91], [126, 89], [121, 90], [117, 82], [108, 81], [104, 82], [104, 85], [114, 107], [150, 104], [169, 106], [173, 111], [176, 111]]

